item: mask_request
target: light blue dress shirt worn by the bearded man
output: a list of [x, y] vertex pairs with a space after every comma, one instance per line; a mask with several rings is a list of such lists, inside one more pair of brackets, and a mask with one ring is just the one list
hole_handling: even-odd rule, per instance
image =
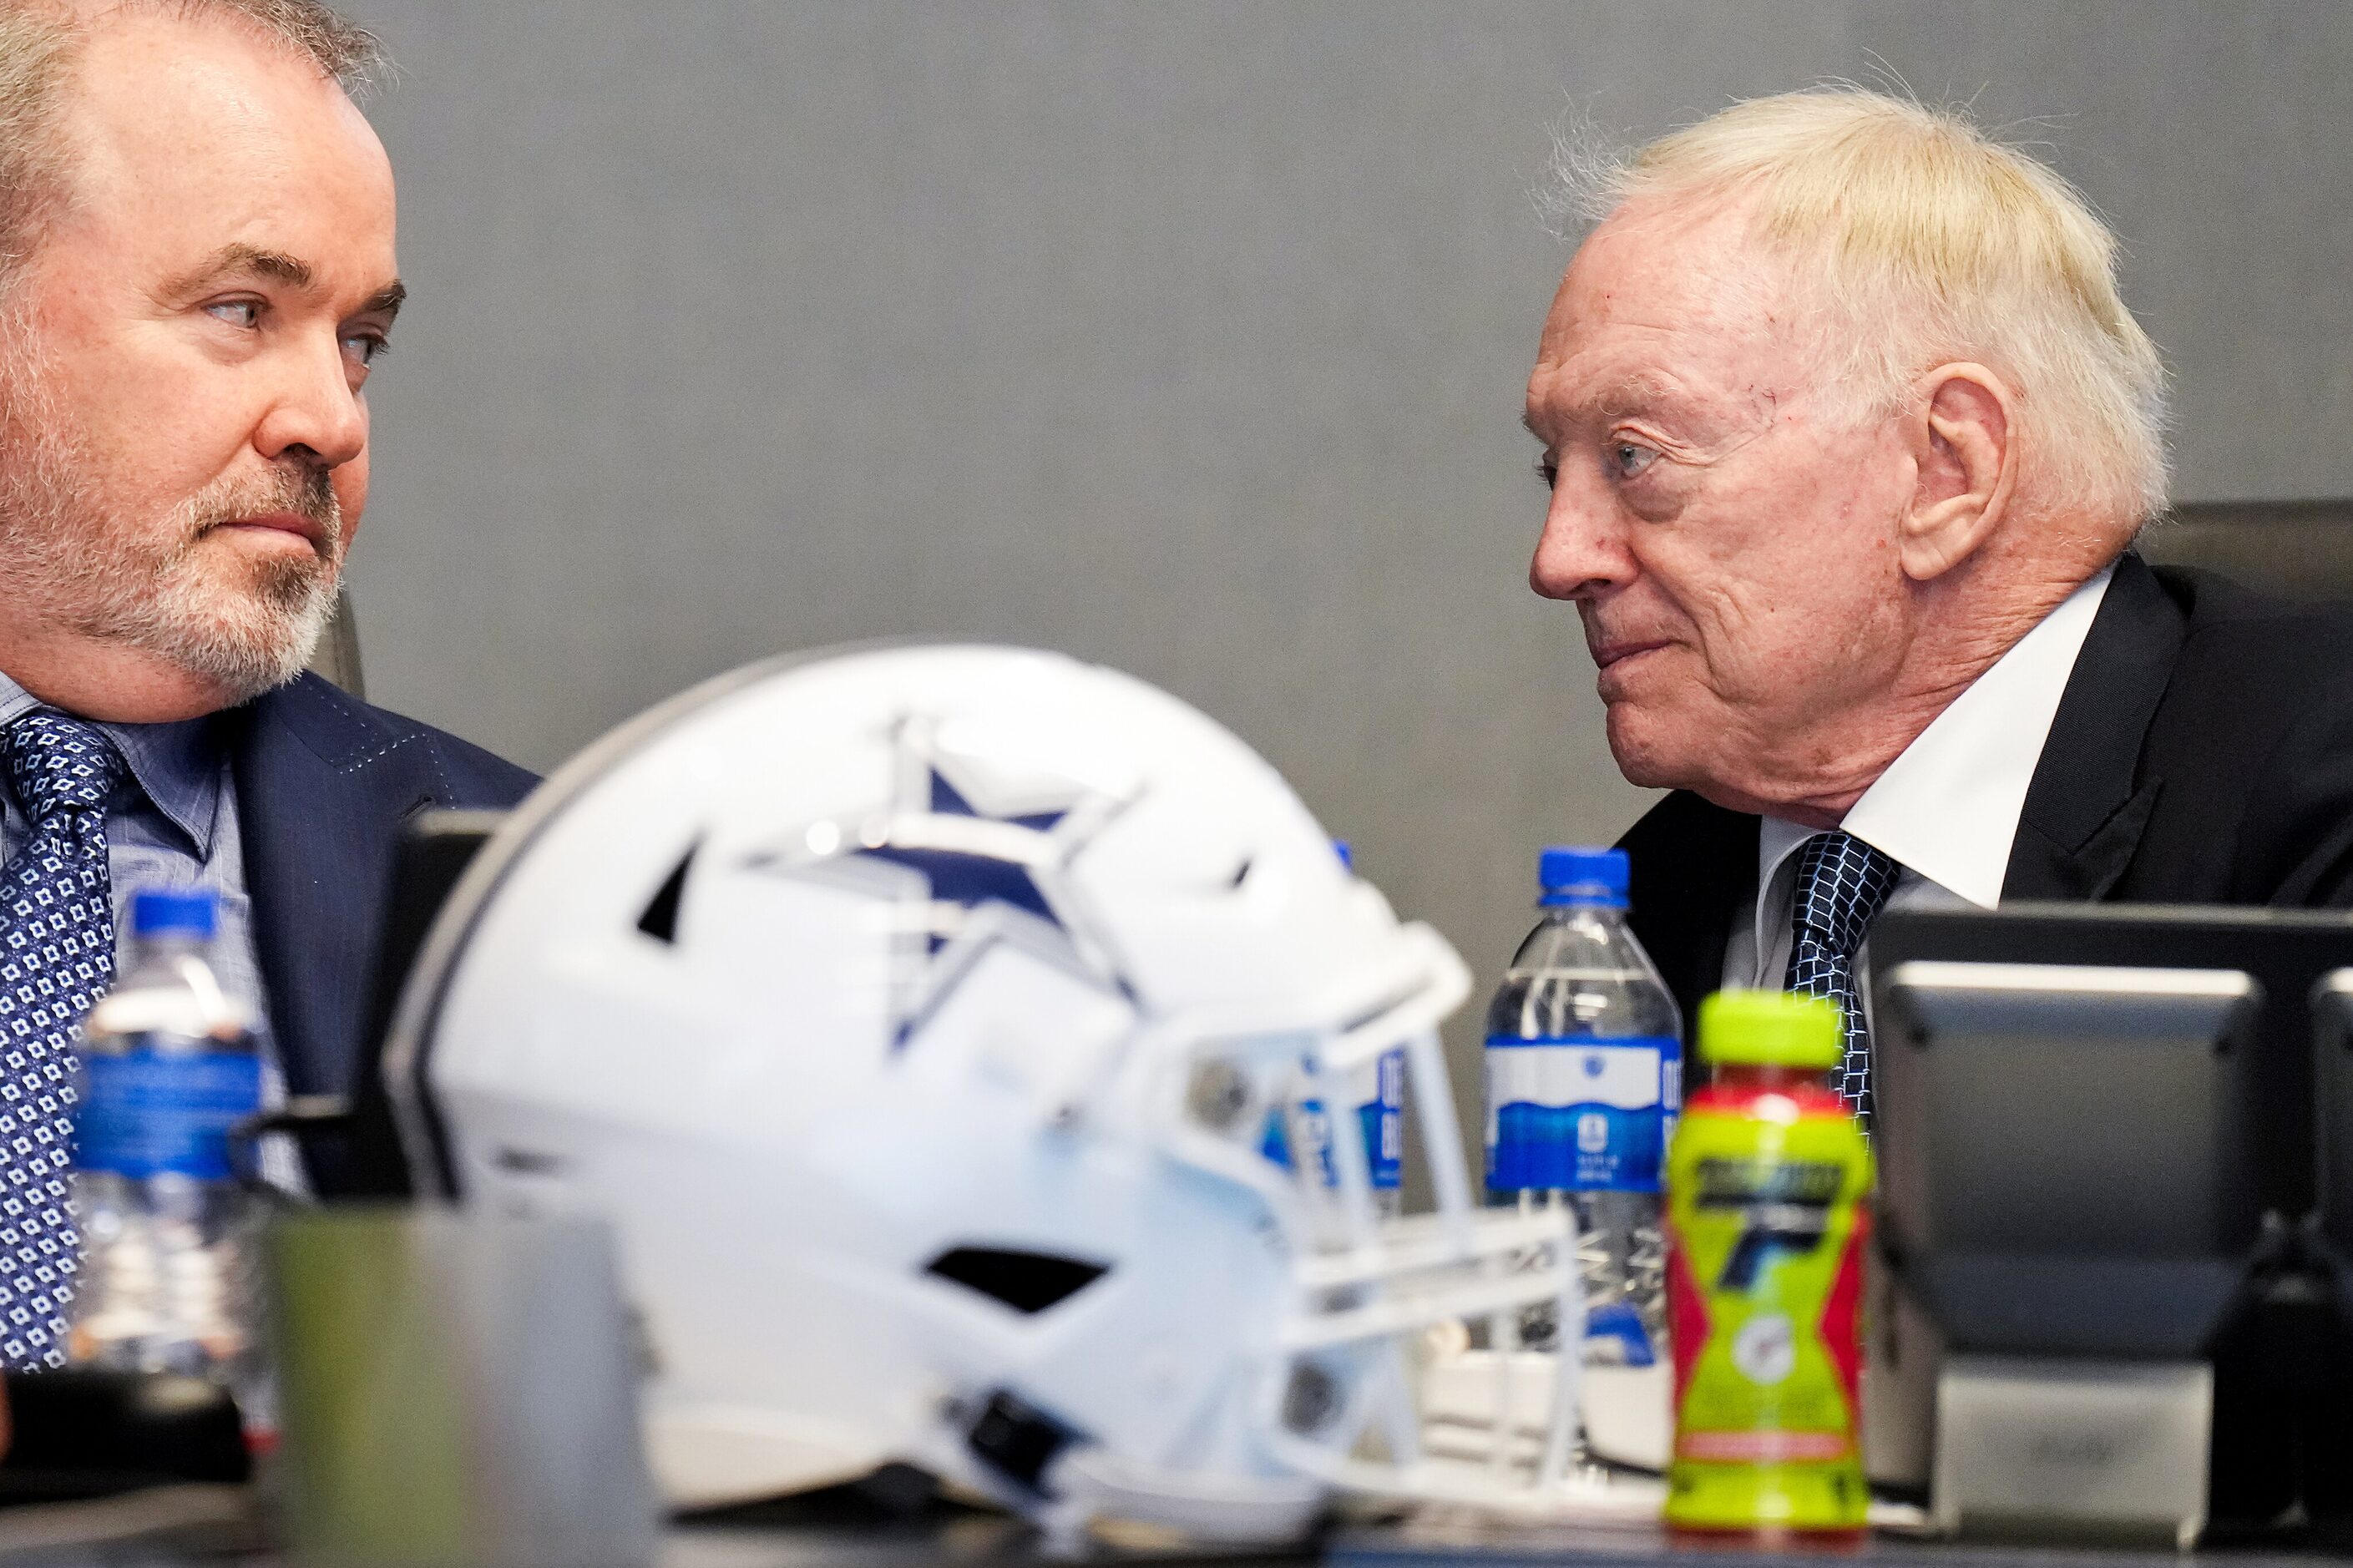
[[[40, 702], [0, 673], [0, 730]], [[186, 718], [167, 725], [94, 723], [122, 753], [129, 777], [106, 805], [106, 869], [115, 902], [115, 961], [129, 958], [132, 897], [141, 888], [205, 890], [219, 899], [221, 923], [212, 944], [221, 991], [254, 1019], [261, 1050], [264, 1092], [285, 1099], [278, 1050], [271, 1041], [254, 961], [254, 906], [245, 895], [245, 843], [238, 836], [238, 793], [214, 720]], [[31, 833], [14, 786], [0, 784], [0, 864], [16, 857]], [[301, 1189], [301, 1168], [289, 1140], [271, 1137], [261, 1151], [264, 1177], [280, 1189]]]

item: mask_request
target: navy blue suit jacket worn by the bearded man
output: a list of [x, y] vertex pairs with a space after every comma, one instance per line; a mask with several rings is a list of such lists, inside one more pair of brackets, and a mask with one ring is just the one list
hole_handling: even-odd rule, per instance
[[536, 779], [308, 673], [221, 718], [287, 1090], [348, 1095], [402, 824], [506, 808]]

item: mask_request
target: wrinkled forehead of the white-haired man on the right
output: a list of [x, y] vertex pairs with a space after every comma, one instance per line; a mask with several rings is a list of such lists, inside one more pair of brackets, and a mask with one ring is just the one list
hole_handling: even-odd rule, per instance
[[1784, 400], [1819, 381], [1824, 313], [1744, 207], [1633, 202], [1577, 250], [1544, 323], [1532, 398], [1680, 384]]

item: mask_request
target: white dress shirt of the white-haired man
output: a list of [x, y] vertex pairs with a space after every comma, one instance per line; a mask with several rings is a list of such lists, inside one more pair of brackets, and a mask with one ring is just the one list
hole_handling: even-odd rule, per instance
[[[1901, 869], [1889, 909], [1993, 909], [2002, 899], [2026, 789], [2111, 574], [2075, 589], [1969, 683], [1840, 822]], [[1758, 824], [1755, 911], [1732, 923], [1727, 986], [1781, 986], [1798, 850], [1819, 831], [1779, 817]], [[1864, 975], [1859, 958], [1857, 979]]]

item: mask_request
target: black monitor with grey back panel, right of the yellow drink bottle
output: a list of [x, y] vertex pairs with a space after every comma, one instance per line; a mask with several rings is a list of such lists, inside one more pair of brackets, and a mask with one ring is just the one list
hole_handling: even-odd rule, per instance
[[2289, 1507], [2334, 1420], [2294, 1234], [2315, 1001], [2346, 965], [2353, 916], [2315, 911], [2012, 904], [1871, 932], [1882, 1262], [1958, 1351], [2209, 1363], [2219, 1519]]

